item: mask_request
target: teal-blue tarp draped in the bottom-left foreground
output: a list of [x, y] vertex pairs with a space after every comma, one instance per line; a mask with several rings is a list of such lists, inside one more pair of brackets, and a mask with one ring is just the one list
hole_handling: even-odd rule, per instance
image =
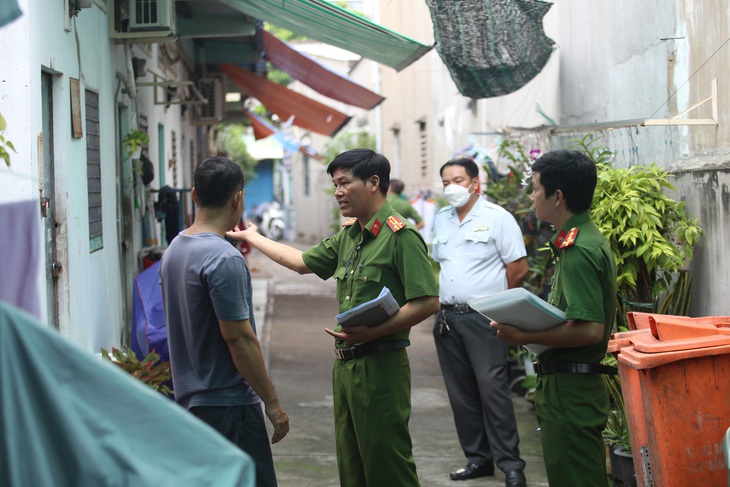
[[0, 302], [0, 485], [253, 487], [211, 427]]

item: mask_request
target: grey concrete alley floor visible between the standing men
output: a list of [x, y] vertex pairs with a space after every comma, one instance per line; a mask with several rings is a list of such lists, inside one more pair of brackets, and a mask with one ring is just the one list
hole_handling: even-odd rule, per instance
[[[289, 243], [292, 244], [292, 243]], [[293, 245], [305, 249], [307, 246]], [[333, 340], [324, 332], [337, 314], [335, 283], [300, 276], [252, 251], [254, 307], [259, 338], [291, 430], [273, 446], [280, 487], [336, 487], [331, 370]], [[429, 318], [411, 331], [413, 451], [424, 487], [504, 486], [504, 474], [455, 482], [449, 472], [466, 460], [456, 437], [453, 416], [439, 369]], [[527, 462], [528, 485], [547, 486], [535, 413], [514, 396], [520, 452]], [[398, 487], [398, 486], [378, 486]]]

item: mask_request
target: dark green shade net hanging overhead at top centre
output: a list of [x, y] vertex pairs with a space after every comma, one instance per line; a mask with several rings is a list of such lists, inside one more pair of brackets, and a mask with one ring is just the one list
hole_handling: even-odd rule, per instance
[[539, 0], [430, 0], [436, 50], [462, 95], [491, 98], [517, 91], [553, 50]]

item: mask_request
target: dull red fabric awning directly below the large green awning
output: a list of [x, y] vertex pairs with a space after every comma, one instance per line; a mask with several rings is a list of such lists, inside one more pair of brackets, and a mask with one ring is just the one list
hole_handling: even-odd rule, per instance
[[263, 31], [263, 41], [266, 59], [324, 96], [366, 110], [375, 108], [385, 99], [300, 53], [269, 32]]

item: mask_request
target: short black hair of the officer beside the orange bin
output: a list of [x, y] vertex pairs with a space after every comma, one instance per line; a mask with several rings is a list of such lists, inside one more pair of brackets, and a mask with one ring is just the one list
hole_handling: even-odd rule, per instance
[[591, 207], [598, 171], [596, 163], [582, 152], [547, 152], [532, 164], [532, 173], [540, 175], [546, 197], [560, 190], [567, 208], [573, 213], [582, 213]]

